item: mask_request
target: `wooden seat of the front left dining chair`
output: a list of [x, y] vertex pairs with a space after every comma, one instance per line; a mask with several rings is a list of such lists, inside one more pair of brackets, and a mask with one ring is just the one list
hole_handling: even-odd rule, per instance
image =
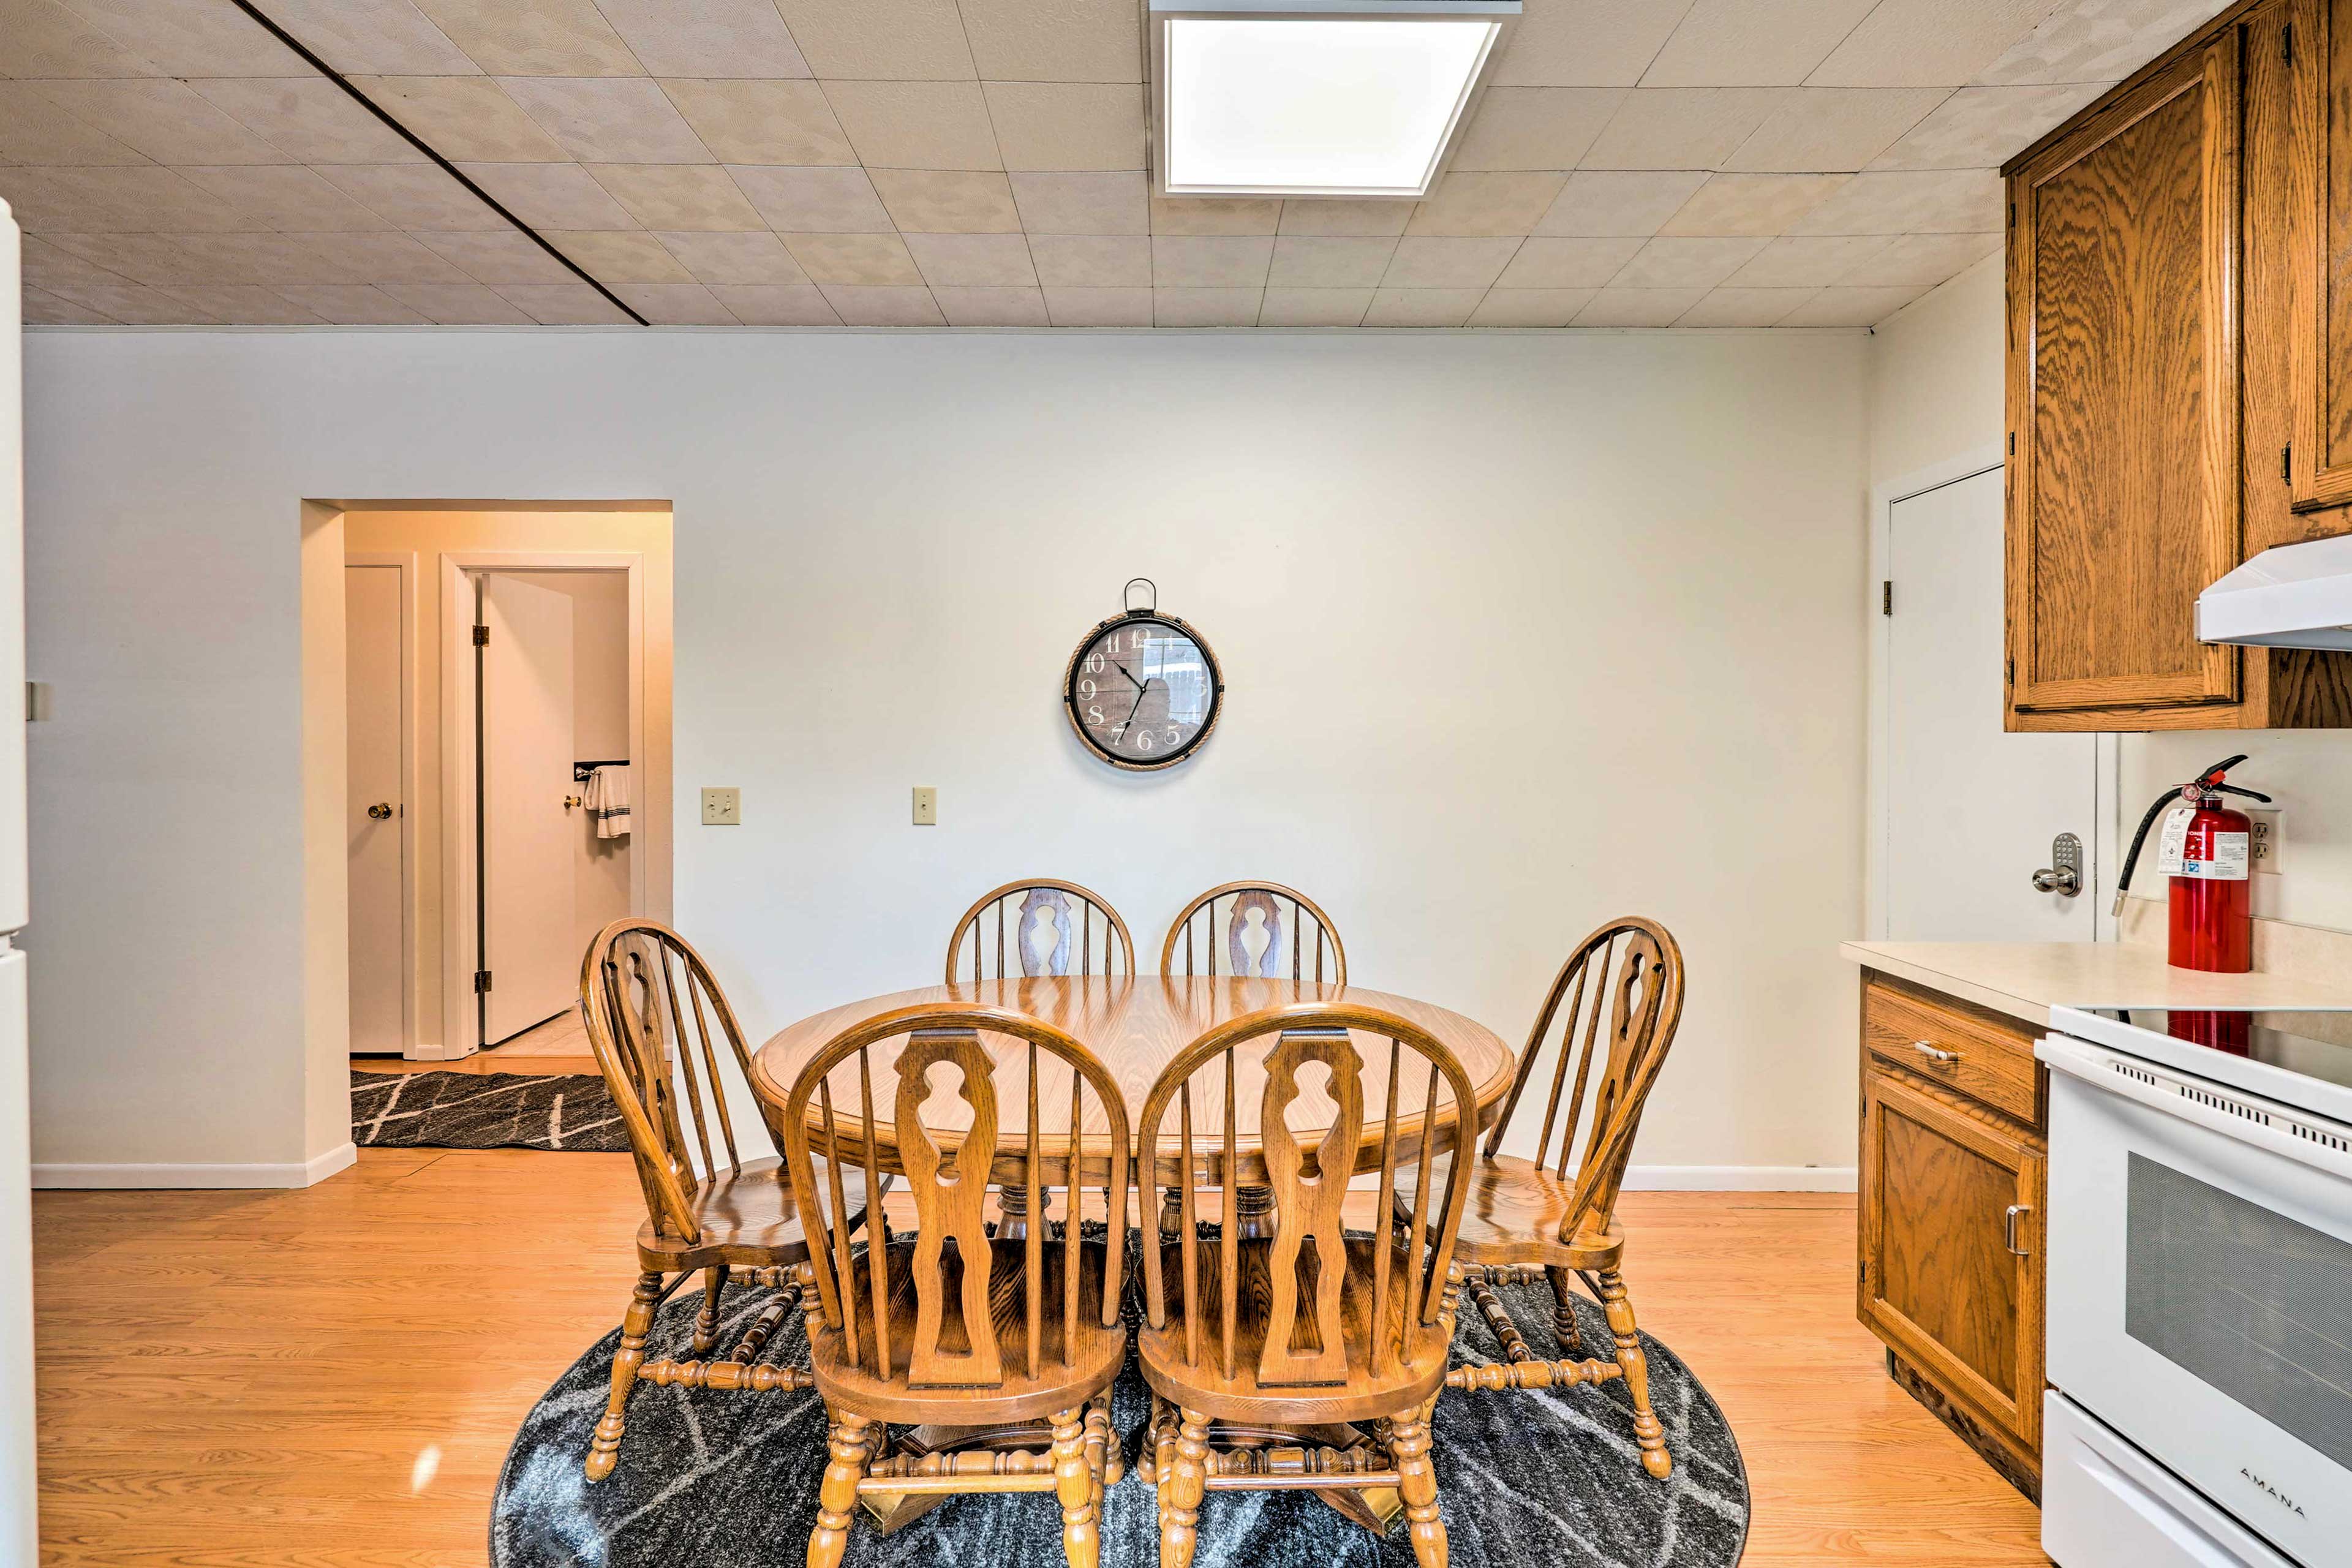
[[[997, 1335], [1000, 1382], [985, 1387], [913, 1387], [908, 1382], [915, 1354], [915, 1237], [898, 1237], [889, 1244], [889, 1378], [875, 1375], [873, 1345], [863, 1338], [863, 1363], [849, 1361], [847, 1333], [826, 1324], [811, 1298], [809, 1368], [816, 1373], [816, 1392], [823, 1394], [826, 1403], [873, 1420], [971, 1427], [1054, 1415], [1084, 1403], [1096, 1389], [1110, 1387], [1127, 1361], [1127, 1324], [1103, 1326], [1103, 1244], [1082, 1241], [1077, 1248], [1075, 1342], [1065, 1345], [1063, 1253], [1058, 1239], [1044, 1239], [1035, 1378], [1028, 1371], [1028, 1302], [1023, 1300], [1028, 1248], [1011, 1239], [993, 1241], [990, 1248], [988, 1307]], [[873, 1300], [873, 1269], [863, 1251], [854, 1262], [849, 1291], [861, 1305]], [[870, 1309], [858, 1312], [854, 1321], [866, 1335], [873, 1326]], [[953, 1328], [941, 1338], [962, 1349], [962, 1340], [950, 1335]]]

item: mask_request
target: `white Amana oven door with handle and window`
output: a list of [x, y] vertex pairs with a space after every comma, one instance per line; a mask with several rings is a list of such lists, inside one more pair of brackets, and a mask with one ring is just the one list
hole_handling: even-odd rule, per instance
[[2352, 1540], [2352, 1128], [2053, 1034], [2049, 1378], [2298, 1563]]

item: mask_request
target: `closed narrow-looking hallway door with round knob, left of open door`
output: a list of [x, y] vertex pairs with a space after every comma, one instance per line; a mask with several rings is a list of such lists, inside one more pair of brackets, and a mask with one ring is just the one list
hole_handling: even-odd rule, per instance
[[400, 898], [409, 832], [400, 766], [402, 637], [400, 567], [343, 567], [353, 1056], [400, 1056], [409, 1044]]

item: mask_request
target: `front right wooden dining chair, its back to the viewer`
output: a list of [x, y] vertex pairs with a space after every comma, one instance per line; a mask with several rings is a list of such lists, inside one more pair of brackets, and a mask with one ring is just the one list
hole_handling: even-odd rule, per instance
[[[1350, 1030], [1381, 1041], [1371, 1072]], [[1200, 1107], [1195, 1074], [1207, 1079]], [[1251, 1095], [1258, 1133], [1244, 1143], [1237, 1107]], [[1171, 1107], [1174, 1145], [1162, 1138]], [[1444, 1566], [1430, 1410], [1454, 1342], [1454, 1232], [1468, 1199], [1449, 1171], [1430, 1201], [1428, 1128], [1446, 1112], [1477, 1126], [1463, 1065], [1418, 1025], [1362, 1006], [1249, 1013], [1202, 1034], [1152, 1084], [1136, 1182], [1176, 1187], [1183, 1208], [1176, 1234], [1143, 1248], [1138, 1354], [1162, 1568], [1192, 1561], [1204, 1493], [1298, 1488], [1374, 1530], [1402, 1502], [1421, 1568]], [[1399, 1168], [1418, 1168], [1418, 1201], [1411, 1225], [1350, 1237], [1341, 1204], [1367, 1152], [1381, 1171], [1374, 1213], [1390, 1211]], [[1247, 1204], [1254, 1185], [1272, 1201]], [[1195, 1190], [1218, 1194], [1214, 1241], [1200, 1237]], [[1244, 1211], [1254, 1225], [1235, 1222]]]

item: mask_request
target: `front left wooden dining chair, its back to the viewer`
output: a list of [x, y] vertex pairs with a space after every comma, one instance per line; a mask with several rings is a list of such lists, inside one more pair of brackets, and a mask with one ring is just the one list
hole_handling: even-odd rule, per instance
[[[898, 1046], [877, 1067], [887, 1041]], [[1096, 1568], [1103, 1490], [1124, 1467], [1110, 1429], [1110, 1382], [1127, 1361], [1131, 1152], [1117, 1079], [1025, 1013], [908, 1006], [809, 1058], [783, 1138], [802, 1213], [818, 1222], [804, 1267], [821, 1312], [809, 1366], [830, 1415], [809, 1568], [842, 1561], [854, 1505], [894, 1530], [950, 1493], [1054, 1493], [1063, 1552]], [[906, 1173], [915, 1234], [884, 1222], [880, 1248], [851, 1248], [840, 1178], [863, 1168], [877, 1190], [882, 1143]], [[1023, 1192], [1018, 1225], [990, 1232], [990, 1182]], [[1065, 1194], [1058, 1239], [1047, 1237], [1054, 1187]], [[1080, 1225], [1089, 1187], [1103, 1192], [1098, 1239]], [[891, 1422], [915, 1427], [896, 1453]]]

